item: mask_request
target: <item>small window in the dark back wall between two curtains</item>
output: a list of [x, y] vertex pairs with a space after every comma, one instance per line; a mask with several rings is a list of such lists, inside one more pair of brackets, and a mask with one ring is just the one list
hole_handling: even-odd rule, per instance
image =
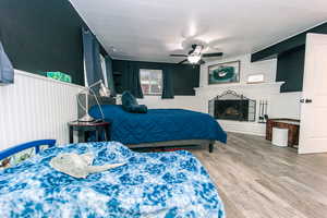
[[141, 87], [143, 95], [162, 94], [162, 71], [140, 69]]

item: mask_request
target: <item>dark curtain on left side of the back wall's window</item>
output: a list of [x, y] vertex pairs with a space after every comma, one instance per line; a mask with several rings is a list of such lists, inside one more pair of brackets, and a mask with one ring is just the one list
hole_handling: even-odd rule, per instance
[[124, 89], [130, 90], [136, 98], [143, 98], [143, 92], [140, 80], [140, 66], [134, 62], [129, 62], [123, 72]]

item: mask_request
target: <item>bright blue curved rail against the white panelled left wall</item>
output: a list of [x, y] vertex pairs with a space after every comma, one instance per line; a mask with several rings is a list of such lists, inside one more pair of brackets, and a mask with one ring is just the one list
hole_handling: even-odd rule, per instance
[[41, 145], [48, 145], [49, 147], [53, 147], [56, 145], [56, 140], [39, 140], [29, 143], [24, 143], [21, 145], [16, 145], [0, 152], [0, 160], [5, 159], [14, 154], [17, 154], [24, 149], [28, 149], [35, 147], [35, 154], [39, 153], [39, 147]]

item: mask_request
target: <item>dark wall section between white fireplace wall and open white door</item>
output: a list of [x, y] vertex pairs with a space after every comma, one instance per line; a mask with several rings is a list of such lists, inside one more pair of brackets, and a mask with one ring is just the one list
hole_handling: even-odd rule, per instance
[[301, 92], [303, 87], [305, 46], [278, 56], [276, 81], [284, 81], [281, 93]]

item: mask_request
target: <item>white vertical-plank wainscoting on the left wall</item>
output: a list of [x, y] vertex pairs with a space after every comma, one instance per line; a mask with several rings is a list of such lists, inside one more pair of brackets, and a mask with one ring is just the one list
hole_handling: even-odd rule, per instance
[[16, 70], [14, 84], [0, 86], [0, 150], [34, 140], [68, 143], [66, 122], [77, 118], [81, 88]]

